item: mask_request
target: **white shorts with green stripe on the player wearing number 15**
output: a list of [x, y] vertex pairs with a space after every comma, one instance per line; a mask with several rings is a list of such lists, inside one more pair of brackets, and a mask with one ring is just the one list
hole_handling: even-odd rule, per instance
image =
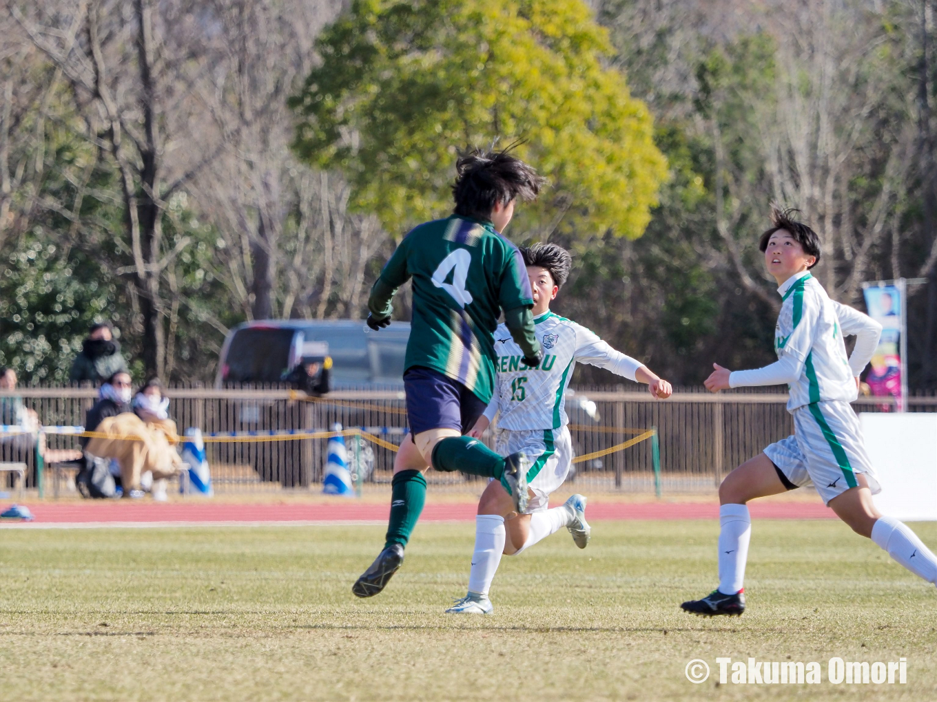
[[528, 470], [528, 488], [533, 493], [525, 514], [543, 512], [550, 505], [550, 493], [557, 490], [573, 464], [573, 440], [565, 426], [559, 429], [501, 430], [498, 453], [509, 456], [524, 451], [532, 465]]

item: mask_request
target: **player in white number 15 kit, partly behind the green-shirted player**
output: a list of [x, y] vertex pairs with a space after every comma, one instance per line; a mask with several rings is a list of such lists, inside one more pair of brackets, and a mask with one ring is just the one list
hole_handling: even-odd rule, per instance
[[533, 292], [534, 326], [543, 344], [543, 360], [533, 368], [526, 366], [520, 346], [508, 328], [500, 325], [495, 332], [495, 395], [468, 435], [481, 437], [500, 413], [498, 453], [508, 456], [523, 451], [532, 461], [527, 475], [528, 506], [518, 515], [506, 487], [494, 480], [488, 484], [475, 518], [468, 594], [446, 610], [452, 614], [492, 612], [488, 590], [502, 553], [516, 555], [563, 527], [573, 534], [576, 546], [588, 544], [591, 529], [583, 495], [573, 495], [565, 505], [548, 509], [550, 493], [563, 484], [573, 461], [564, 396], [576, 362], [647, 383], [655, 398], [668, 398], [673, 391], [670, 383], [647, 366], [617, 352], [585, 327], [550, 312], [550, 301], [556, 299], [570, 273], [572, 258], [565, 249], [548, 243], [520, 251]]

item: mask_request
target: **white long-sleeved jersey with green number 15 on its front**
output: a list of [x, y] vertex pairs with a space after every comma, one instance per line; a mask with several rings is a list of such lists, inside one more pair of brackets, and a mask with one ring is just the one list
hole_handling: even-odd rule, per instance
[[520, 346], [503, 324], [495, 332], [495, 394], [485, 410], [489, 420], [500, 412], [498, 427], [512, 431], [559, 429], [569, 423], [566, 388], [576, 362], [604, 368], [634, 380], [638, 361], [616, 351], [597, 334], [558, 314], [547, 312], [534, 319], [543, 361], [525, 366]]

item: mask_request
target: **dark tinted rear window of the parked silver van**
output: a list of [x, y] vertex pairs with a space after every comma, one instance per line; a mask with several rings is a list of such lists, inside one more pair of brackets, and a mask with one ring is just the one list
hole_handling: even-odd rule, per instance
[[224, 380], [279, 383], [290, 373], [290, 346], [295, 333], [295, 329], [239, 329], [228, 347]]

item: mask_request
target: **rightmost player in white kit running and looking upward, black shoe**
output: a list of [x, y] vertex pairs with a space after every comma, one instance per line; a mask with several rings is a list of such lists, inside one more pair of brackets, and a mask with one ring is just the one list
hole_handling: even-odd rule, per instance
[[[883, 517], [872, 503], [879, 492], [858, 417], [850, 402], [858, 396], [859, 373], [878, 344], [881, 325], [830, 300], [810, 270], [820, 260], [816, 232], [794, 217], [796, 210], [772, 208], [773, 226], [761, 237], [768, 272], [778, 281], [781, 313], [774, 332], [778, 361], [765, 368], [730, 372], [716, 369], [706, 388], [719, 392], [788, 384], [788, 412], [794, 435], [767, 446], [742, 463], [719, 488], [719, 587], [701, 600], [684, 602], [688, 612], [705, 616], [745, 611], [743, 578], [751, 538], [746, 503], [810, 485], [856, 534], [871, 538], [915, 575], [937, 582], [937, 559], [907, 525]], [[843, 335], [855, 335], [846, 356]]]

